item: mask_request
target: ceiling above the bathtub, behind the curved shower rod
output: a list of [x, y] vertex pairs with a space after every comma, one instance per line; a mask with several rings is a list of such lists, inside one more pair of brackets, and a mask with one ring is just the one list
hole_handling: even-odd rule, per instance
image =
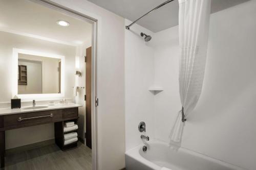
[[[136, 20], [166, 0], [88, 0], [102, 8], [116, 13], [131, 21]], [[211, 12], [244, 3], [249, 0], [212, 0]], [[178, 25], [178, 0], [170, 2], [153, 13], [143, 17], [138, 24], [153, 32], [159, 32]]]

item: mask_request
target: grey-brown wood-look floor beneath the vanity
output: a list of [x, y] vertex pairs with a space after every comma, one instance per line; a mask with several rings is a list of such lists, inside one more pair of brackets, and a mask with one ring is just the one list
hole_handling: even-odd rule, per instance
[[[30, 169], [92, 169], [92, 151], [78, 142], [77, 148], [61, 151], [57, 145], [50, 144], [19, 153], [7, 154], [5, 170]], [[2, 168], [4, 169], [4, 168]], [[1, 170], [2, 170], [1, 169]]]

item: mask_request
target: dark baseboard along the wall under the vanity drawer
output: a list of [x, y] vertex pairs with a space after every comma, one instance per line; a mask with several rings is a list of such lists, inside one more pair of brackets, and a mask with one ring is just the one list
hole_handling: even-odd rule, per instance
[[41, 148], [54, 143], [55, 143], [55, 139], [49, 139], [49, 140], [40, 141], [32, 144], [27, 144], [22, 147], [7, 149], [5, 152], [6, 152], [6, 155], [12, 155], [14, 153], [20, 153], [20, 152], [24, 152], [24, 151], [28, 151], [36, 148]]

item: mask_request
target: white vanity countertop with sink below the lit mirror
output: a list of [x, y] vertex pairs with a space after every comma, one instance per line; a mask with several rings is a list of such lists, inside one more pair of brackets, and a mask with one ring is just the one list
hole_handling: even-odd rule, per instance
[[[39, 105], [36, 105], [39, 106]], [[7, 115], [7, 114], [16, 114], [16, 113], [27, 113], [27, 112], [36, 112], [36, 111], [44, 111], [44, 110], [55, 110], [55, 109], [65, 109], [65, 108], [72, 108], [72, 107], [81, 107], [82, 105], [68, 103], [68, 104], [54, 104], [54, 105], [40, 105], [40, 106], [48, 106], [47, 108], [37, 108], [37, 109], [26, 109], [28, 107], [22, 107], [20, 109], [11, 109], [11, 108], [0, 108], [0, 116]]]

